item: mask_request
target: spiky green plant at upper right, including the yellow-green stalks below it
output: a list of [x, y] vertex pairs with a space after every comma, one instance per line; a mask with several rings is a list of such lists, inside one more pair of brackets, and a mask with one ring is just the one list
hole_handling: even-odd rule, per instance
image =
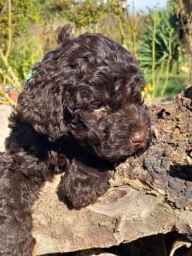
[[[169, 74], [177, 63], [180, 55], [181, 42], [178, 39], [173, 14], [170, 10], [150, 12], [146, 18], [137, 48], [138, 57], [144, 73], [150, 73], [156, 96], [157, 87], [163, 73], [166, 73], [160, 96], [164, 96]], [[162, 83], [162, 80], [161, 80]]]

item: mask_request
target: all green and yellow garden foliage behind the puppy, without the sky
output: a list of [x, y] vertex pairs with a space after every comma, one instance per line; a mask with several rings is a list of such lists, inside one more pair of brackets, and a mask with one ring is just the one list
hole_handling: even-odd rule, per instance
[[56, 28], [70, 22], [75, 35], [100, 32], [123, 44], [141, 61], [148, 81], [143, 94], [164, 96], [167, 86], [174, 89], [170, 79], [177, 84], [179, 66], [188, 69], [171, 10], [176, 2], [134, 17], [124, 0], [0, 0], [0, 84], [20, 90], [33, 63], [55, 47]]

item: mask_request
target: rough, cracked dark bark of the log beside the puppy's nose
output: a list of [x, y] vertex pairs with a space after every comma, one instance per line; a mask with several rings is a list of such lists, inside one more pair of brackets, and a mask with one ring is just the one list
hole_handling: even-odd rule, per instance
[[[139, 180], [176, 208], [192, 207], [192, 87], [172, 103], [151, 106], [154, 138], [140, 158], [129, 159], [116, 175]], [[133, 186], [134, 182], [130, 185]], [[137, 189], [139, 187], [137, 186]]]

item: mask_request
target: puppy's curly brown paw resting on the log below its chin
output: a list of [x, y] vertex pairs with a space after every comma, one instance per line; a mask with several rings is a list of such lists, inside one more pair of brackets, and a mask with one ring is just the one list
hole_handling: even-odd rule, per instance
[[57, 195], [68, 207], [86, 207], [108, 190], [108, 179], [108, 172], [99, 172], [73, 160], [67, 172], [61, 177]]

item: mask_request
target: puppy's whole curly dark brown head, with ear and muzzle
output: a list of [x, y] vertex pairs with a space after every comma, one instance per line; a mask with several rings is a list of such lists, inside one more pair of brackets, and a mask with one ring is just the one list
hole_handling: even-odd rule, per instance
[[100, 34], [70, 38], [35, 64], [19, 96], [21, 121], [49, 141], [73, 135], [84, 148], [116, 161], [148, 148], [150, 121], [142, 107], [143, 73], [123, 46]]

